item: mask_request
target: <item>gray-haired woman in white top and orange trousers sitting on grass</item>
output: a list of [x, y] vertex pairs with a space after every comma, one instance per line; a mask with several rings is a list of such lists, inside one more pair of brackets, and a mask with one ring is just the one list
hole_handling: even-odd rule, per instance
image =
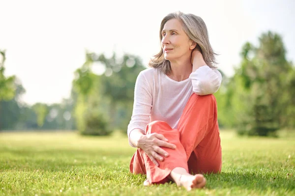
[[135, 84], [129, 144], [137, 147], [134, 174], [145, 185], [173, 180], [187, 190], [203, 188], [202, 173], [221, 171], [221, 146], [215, 93], [221, 74], [204, 21], [193, 14], [170, 13], [160, 26], [161, 51]]

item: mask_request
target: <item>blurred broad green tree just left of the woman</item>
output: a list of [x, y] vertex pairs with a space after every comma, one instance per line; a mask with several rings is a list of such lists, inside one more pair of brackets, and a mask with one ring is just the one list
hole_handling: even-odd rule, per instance
[[[92, 72], [98, 64], [105, 69], [102, 75]], [[75, 110], [78, 129], [93, 132], [96, 119], [97, 132], [102, 135], [107, 132], [98, 131], [102, 129], [98, 128], [100, 125], [106, 130], [125, 131], [132, 113], [135, 81], [144, 69], [137, 56], [124, 55], [118, 59], [115, 53], [110, 58], [87, 53], [86, 62], [75, 72], [77, 77], [73, 81], [78, 93]]]

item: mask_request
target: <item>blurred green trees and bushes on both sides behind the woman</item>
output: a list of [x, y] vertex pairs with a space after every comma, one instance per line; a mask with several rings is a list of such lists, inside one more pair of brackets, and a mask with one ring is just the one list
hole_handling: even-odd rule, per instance
[[[245, 43], [232, 77], [223, 75], [218, 102], [220, 128], [240, 135], [276, 136], [295, 128], [295, 67], [286, 59], [282, 37], [268, 31], [259, 45]], [[6, 77], [5, 51], [0, 51], [0, 130], [78, 130], [104, 136], [126, 133], [133, 109], [134, 85], [146, 69], [138, 56], [86, 52], [75, 71], [71, 96], [52, 105], [21, 101], [25, 89], [16, 76]], [[98, 73], [95, 70], [100, 70]]]

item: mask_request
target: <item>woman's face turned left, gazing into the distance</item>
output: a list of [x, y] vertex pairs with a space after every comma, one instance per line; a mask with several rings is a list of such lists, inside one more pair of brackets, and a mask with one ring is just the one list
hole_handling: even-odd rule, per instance
[[161, 46], [166, 60], [175, 61], [191, 57], [195, 44], [182, 29], [179, 20], [167, 21], [162, 30]]

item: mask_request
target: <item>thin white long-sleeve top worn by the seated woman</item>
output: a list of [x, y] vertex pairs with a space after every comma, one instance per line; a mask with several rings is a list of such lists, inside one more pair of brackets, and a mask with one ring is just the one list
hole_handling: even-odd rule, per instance
[[217, 69], [207, 65], [192, 72], [188, 79], [177, 82], [156, 68], [148, 68], [137, 77], [134, 89], [134, 104], [131, 120], [127, 128], [129, 144], [130, 132], [139, 128], [145, 132], [148, 123], [161, 120], [173, 129], [184, 107], [193, 93], [207, 95], [215, 93], [222, 76]]

